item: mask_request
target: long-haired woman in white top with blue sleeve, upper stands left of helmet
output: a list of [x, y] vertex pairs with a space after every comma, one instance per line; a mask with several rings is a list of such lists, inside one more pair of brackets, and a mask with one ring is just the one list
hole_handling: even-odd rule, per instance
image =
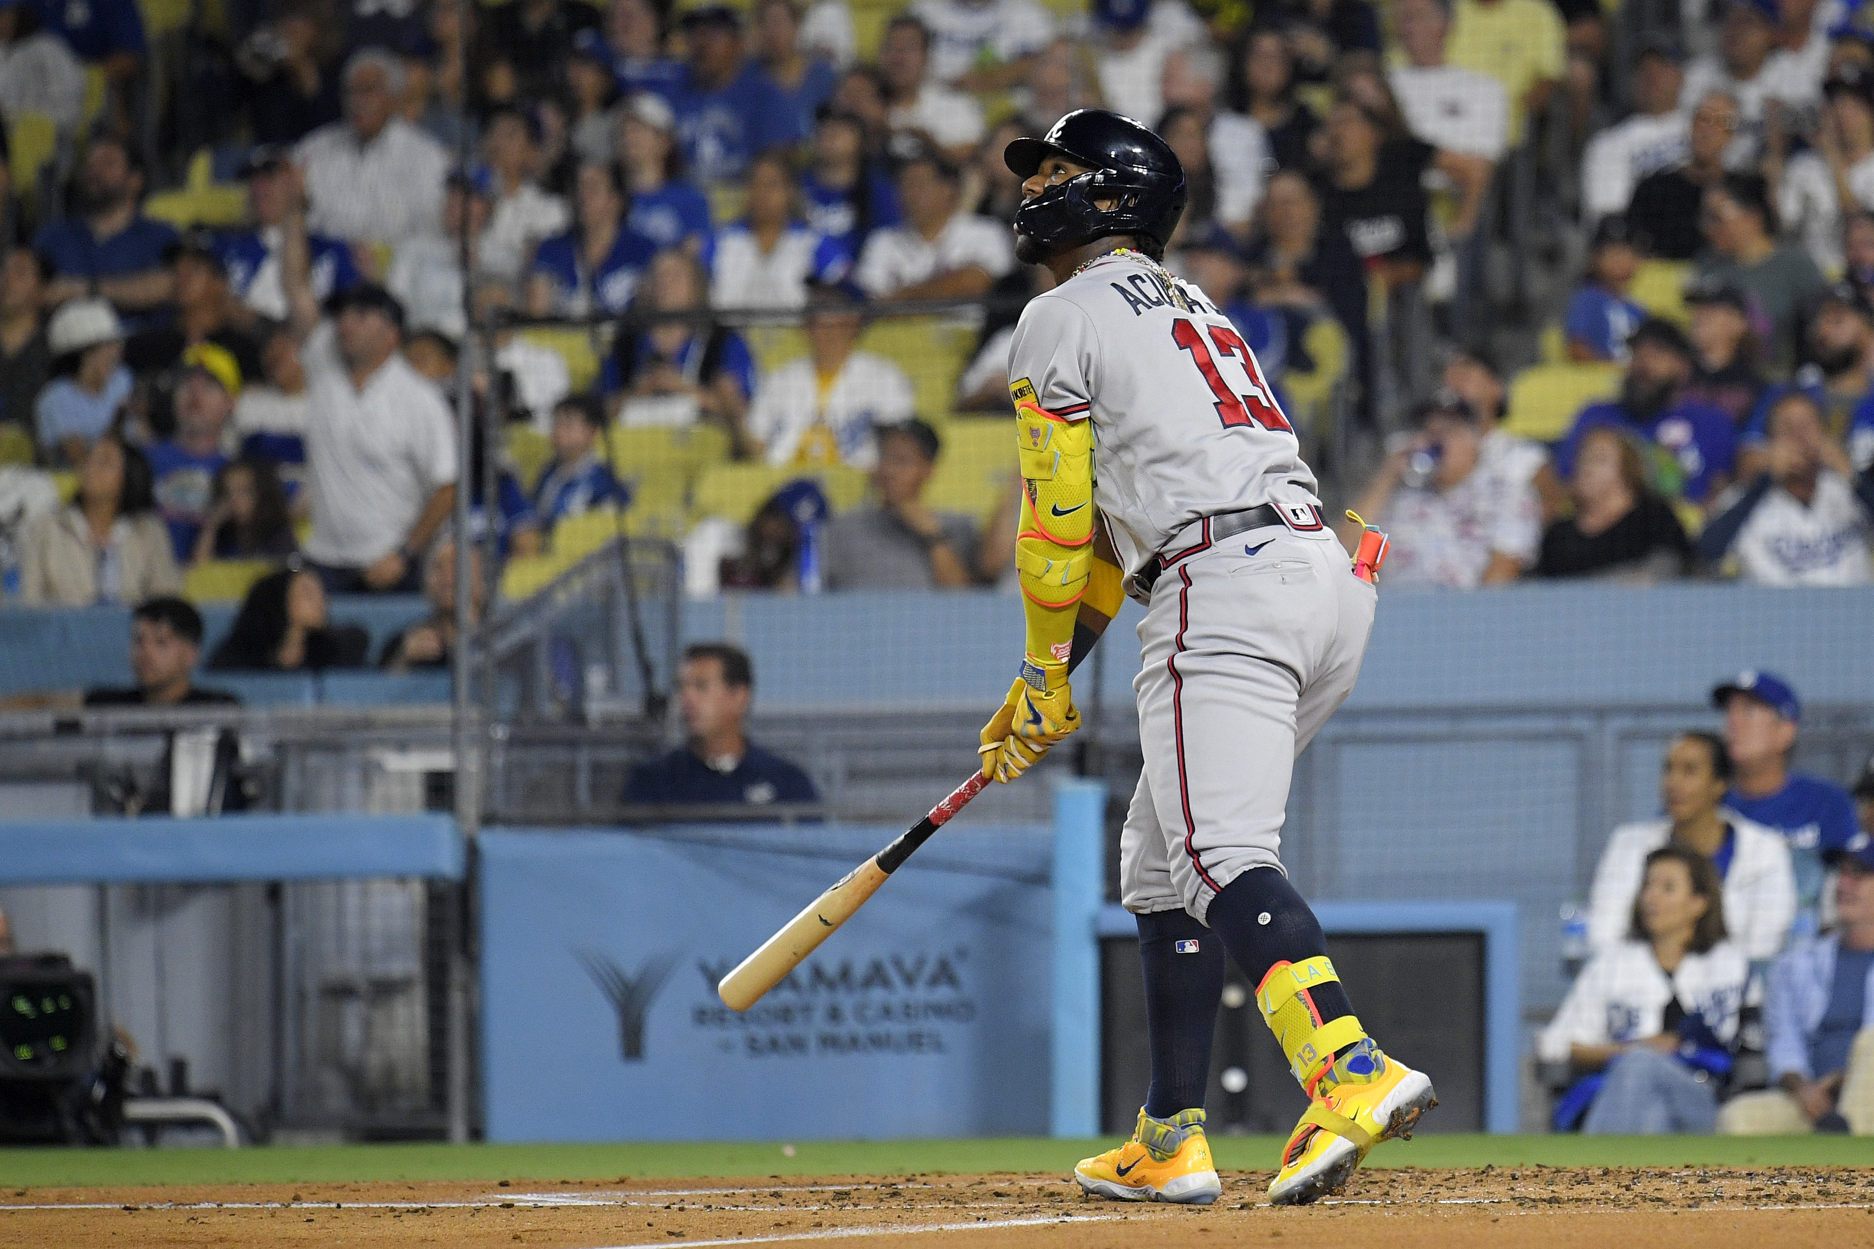
[[840, 281], [853, 266], [845, 249], [798, 219], [787, 157], [748, 165], [748, 215], [716, 236], [710, 305], [725, 309], [804, 307], [808, 283]]

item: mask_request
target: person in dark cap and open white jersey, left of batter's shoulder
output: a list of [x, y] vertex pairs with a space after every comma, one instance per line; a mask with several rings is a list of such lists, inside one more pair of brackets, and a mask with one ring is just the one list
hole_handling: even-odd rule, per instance
[[879, 463], [873, 429], [916, 416], [911, 378], [890, 360], [856, 350], [864, 326], [864, 294], [856, 287], [811, 287], [808, 356], [763, 378], [748, 408], [748, 436], [770, 464], [870, 470]]

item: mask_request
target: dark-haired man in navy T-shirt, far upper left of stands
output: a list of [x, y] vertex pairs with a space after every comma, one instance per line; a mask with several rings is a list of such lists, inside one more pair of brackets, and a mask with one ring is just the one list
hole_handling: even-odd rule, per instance
[[111, 300], [131, 333], [157, 324], [176, 290], [163, 253], [176, 230], [142, 215], [144, 170], [129, 146], [97, 135], [84, 152], [73, 215], [51, 221], [34, 238], [56, 270], [47, 303], [84, 294]]

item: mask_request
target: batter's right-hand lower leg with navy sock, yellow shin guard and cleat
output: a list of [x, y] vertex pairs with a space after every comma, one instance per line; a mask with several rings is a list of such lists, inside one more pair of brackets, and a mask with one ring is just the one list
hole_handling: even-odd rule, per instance
[[1211, 899], [1209, 921], [1237, 966], [1257, 979], [1256, 1006], [1312, 1099], [1282, 1150], [1269, 1200], [1299, 1206], [1338, 1193], [1368, 1150], [1411, 1137], [1437, 1105], [1432, 1080], [1366, 1036], [1319, 919], [1280, 871], [1257, 867], [1231, 880]]

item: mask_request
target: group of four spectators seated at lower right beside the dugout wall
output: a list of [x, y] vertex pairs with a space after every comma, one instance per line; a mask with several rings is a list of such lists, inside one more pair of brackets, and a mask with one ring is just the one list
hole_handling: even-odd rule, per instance
[[1537, 1036], [1554, 1127], [1870, 1135], [1874, 760], [1852, 798], [1792, 771], [1803, 704], [1769, 672], [1711, 700], [1722, 732], [1666, 749], [1664, 818], [1600, 852], [1589, 957]]

